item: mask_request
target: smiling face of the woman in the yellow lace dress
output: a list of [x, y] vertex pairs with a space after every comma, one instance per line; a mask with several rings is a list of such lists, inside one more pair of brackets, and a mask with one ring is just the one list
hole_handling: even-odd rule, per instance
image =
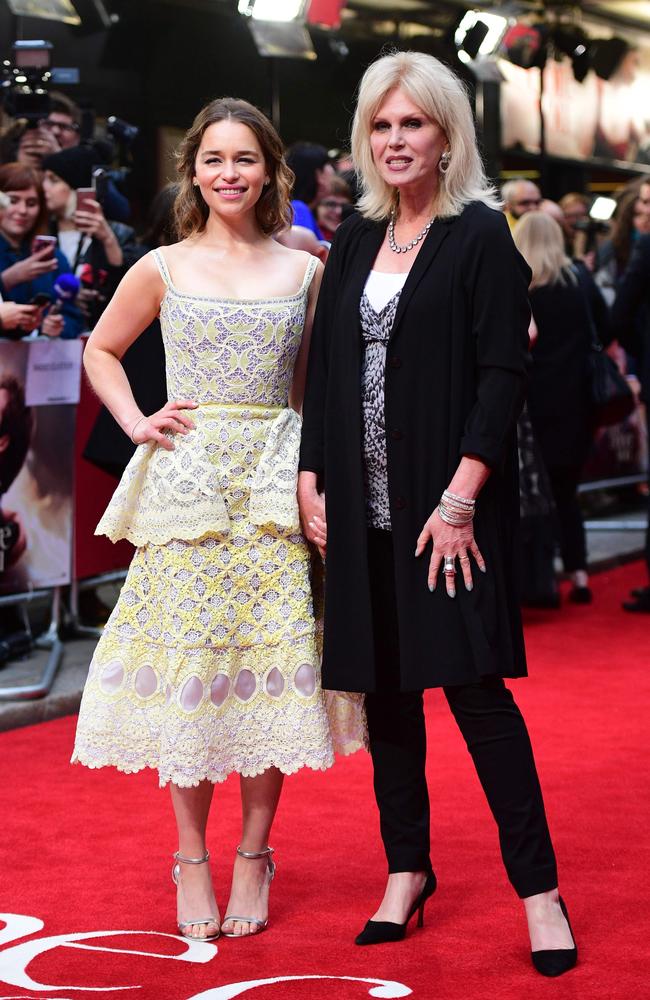
[[232, 120], [210, 125], [199, 146], [194, 178], [211, 212], [235, 219], [253, 211], [268, 173], [252, 129]]

